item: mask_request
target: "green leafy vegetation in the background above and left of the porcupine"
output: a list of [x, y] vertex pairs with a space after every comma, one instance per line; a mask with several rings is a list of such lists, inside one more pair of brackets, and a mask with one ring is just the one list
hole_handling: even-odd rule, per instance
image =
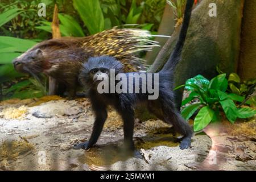
[[[38, 4], [46, 4], [46, 17], [38, 16]], [[36, 43], [51, 39], [51, 21], [55, 3], [59, 9], [62, 36], [88, 36], [97, 32], [133, 24], [156, 31], [163, 14], [165, 0], [2, 0], [0, 2], [0, 100], [41, 97], [47, 93], [47, 78], [30, 78], [14, 70], [11, 61]], [[148, 22], [156, 17], [157, 22]], [[153, 30], [154, 23], [154, 30]], [[138, 25], [134, 25], [138, 24]]]

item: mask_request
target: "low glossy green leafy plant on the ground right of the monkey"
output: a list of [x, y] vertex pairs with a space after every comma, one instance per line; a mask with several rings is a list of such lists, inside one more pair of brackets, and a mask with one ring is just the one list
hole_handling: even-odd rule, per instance
[[190, 78], [185, 85], [181, 85], [176, 89], [184, 86], [191, 93], [183, 100], [183, 106], [195, 99], [199, 100], [199, 103], [187, 105], [181, 111], [184, 119], [189, 119], [196, 110], [200, 109], [195, 117], [194, 131], [202, 130], [210, 122], [220, 120], [221, 110], [224, 111], [226, 118], [231, 123], [234, 123], [237, 118], [249, 118], [256, 114], [254, 109], [236, 106], [235, 102], [242, 102], [245, 100], [245, 97], [226, 92], [228, 88], [226, 74], [218, 75], [210, 81], [198, 75]]

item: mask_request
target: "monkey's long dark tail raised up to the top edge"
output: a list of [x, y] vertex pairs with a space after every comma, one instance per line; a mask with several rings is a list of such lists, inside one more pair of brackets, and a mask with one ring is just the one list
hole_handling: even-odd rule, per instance
[[164, 67], [160, 72], [162, 71], [173, 72], [177, 63], [179, 63], [180, 61], [181, 51], [184, 46], [185, 38], [187, 36], [193, 3], [194, 3], [194, 0], [187, 0], [187, 3], [185, 5], [183, 24], [181, 26], [181, 30], [179, 34], [179, 39], [177, 40], [176, 46], [174, 48], [174, 51], [171, 53], [170, 58], [168, 59], [167, 63], [164, 65]]

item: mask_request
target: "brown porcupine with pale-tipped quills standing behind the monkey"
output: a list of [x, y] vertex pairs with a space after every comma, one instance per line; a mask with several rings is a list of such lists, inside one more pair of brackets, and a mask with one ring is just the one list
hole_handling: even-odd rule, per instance
[[84, 60], [92, 56], [108, 55], [120, 60], [125, 72], [141, 69], [141, 61], [135, 53], [150, 51], [158, 46], [150, 40], [148, 31], [133, 28], [117, 28], [102, 31], [83, 38], [63, 37], [45, 40], [13, 60], [16, 71], [33, 76], [44, 73], [65, 85], [68, 97], [76, 95], [77, 76]]

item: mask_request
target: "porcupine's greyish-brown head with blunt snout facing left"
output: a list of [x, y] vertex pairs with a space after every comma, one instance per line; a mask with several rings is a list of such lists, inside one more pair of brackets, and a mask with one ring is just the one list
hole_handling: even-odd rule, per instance
[[22, 73], [40, 73], [43, 71], [43, 51], [30, 49], [13, 60], [16, 71]]

